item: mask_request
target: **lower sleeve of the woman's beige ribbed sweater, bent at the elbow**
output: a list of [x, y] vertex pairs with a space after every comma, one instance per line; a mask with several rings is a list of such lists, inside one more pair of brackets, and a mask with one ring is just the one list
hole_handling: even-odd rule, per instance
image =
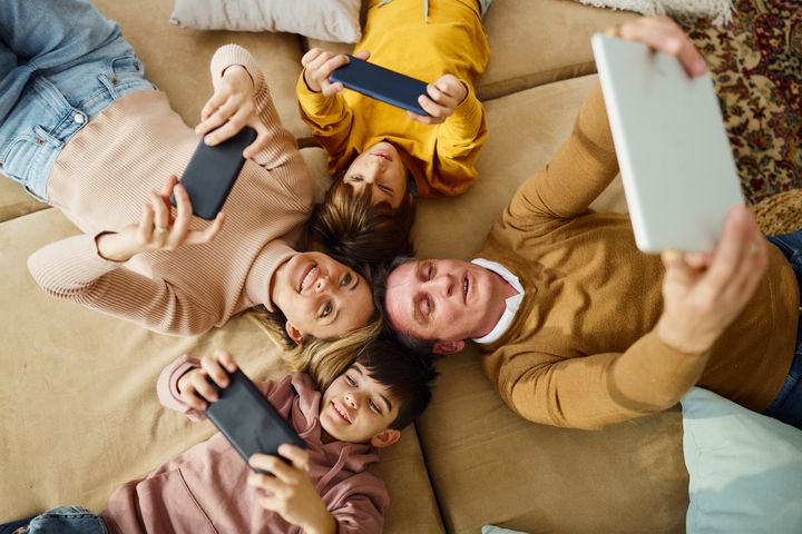
[[28, 258], [28, 269], [48, 295], [153, 330], [193, 335], [219, 320], [219, 313], [206, 309], [175, 285], [123, 267], [101, 258], [90, 235], [56, 241]]

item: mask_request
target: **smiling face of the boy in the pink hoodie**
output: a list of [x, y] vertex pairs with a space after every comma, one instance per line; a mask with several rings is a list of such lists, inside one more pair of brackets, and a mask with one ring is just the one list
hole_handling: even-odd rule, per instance
[[320, 422], [338, 441], [385, 447], [400, 437], [399, 431], [389, 428], [398, 412], [389, 388], [371, 378], [362, 365], [353, 364], [323, 392]]

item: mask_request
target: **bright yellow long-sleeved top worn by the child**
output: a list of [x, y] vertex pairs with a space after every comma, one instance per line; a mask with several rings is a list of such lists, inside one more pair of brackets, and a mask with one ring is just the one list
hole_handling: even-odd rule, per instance
[[301, 118], [329, 152], [332, 174], [346, 169], [366, 148], [389, 141], [401, 149], [419, 195], [459, 195], [477, 179], [475, 165], [488, 135], [485, 110], [473, 91], [473, 80], [490, 56], [478, 4], [431, 0], [424, 21], [421, 2], [380, 3], [369, 2], [363, 37], [354, 50], [368, 50], [372, 63], [427, 82], [451, 73], [467, 83], [466, 99], [444, 122], [423, 125], [359, 92], [313, 92], [302, 73], [296, 86]]

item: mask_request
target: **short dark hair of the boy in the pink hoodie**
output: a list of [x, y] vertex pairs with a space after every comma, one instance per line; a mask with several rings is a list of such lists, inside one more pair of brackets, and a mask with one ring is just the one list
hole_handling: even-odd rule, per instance
[[429, 406], [432, 382], [437, 377], [431, 356], [409, 354], [397, 343], [378, 338], [360, 352], [355, 363], [385, 386], [398, 404], [398, 416], [390, 428], [405, 428]]

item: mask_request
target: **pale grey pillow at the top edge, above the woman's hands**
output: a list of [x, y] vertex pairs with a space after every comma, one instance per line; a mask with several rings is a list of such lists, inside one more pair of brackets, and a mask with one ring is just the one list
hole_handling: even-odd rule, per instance
[[176, 0], [170, 22], [196, 30], [286, 31], [356, 42], [361, 0]]

